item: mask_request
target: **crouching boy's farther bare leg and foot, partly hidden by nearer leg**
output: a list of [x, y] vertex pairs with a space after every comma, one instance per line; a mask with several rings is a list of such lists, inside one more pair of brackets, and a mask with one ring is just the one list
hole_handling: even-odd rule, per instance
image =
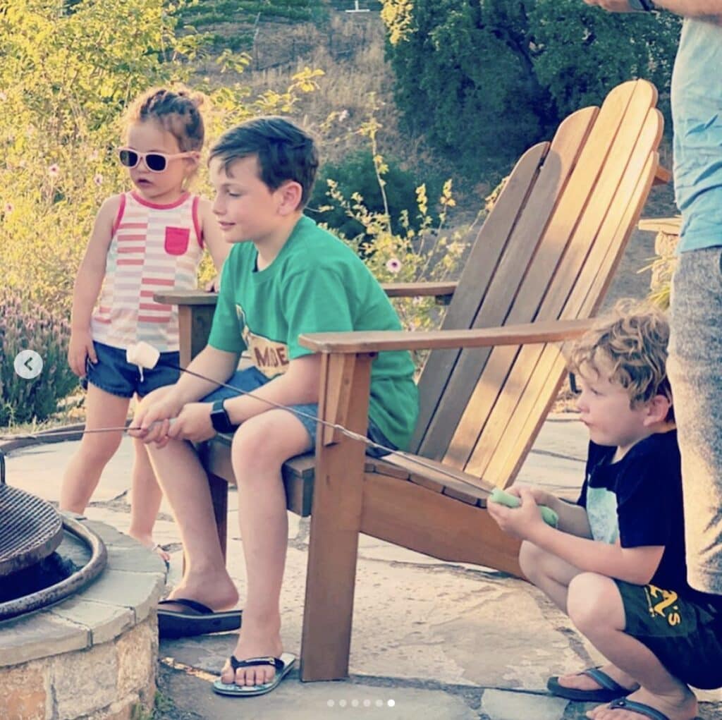
[[[569, 584], [581, 573], [580, 569], [557, 557], [557, 555], [552, 555], [550, 552], [541, 550], [540, 547], [526, 541], [521, 544], [519, 564], [526, 577], [541, 591], [544, 591], [562, 612], [568, 615], [567, 594]], [[633, 677], [630, 677], [613, 664], [606, 664], [601, 667], [601, 670], [606, 672], [609, 677], [612, 677], [612, 680], [622, 685], [623, 688], [637, 687]], [[561, 675], [559, 684], [564, 685], [565, 688], [574, 688], [575, 690], [599, 690], [601, 688], [599, 682], [596, 682], [588, 675], [579, 673]]]

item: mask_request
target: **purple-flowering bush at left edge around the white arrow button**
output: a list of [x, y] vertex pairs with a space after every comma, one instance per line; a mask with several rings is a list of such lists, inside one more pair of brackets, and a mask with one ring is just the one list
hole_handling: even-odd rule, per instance
[[[0, 426], [46, 420], [77, 387], [66, 355], [70, 326], [55, 313], [19, 295], [0, 294]], [[21, 350], [43, 358], [43, 372], [25, 380], [14, 369]]]

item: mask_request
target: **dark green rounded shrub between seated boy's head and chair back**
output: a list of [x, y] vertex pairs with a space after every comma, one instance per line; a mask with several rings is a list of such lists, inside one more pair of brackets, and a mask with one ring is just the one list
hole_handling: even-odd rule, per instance
[[[361, 149], [347, 155], [342, 162], [322, 165], [306, 209], [306, 214], [313, 217], [316, 222], [323, 222], [345, 238], [365, 235], [363, 239], [370, 240], [371, 236], [366, 233], [362, 222], [331, 198], [329, 181], [332, 181], [334, 188], [344, 198], [350, 198], [355, 194], [360, 196], [369, 212], [383, 214], [388, 208], [393, 233], [398, 234], [403, 231], [402, 217], [408, 217], [408, 224], [412, 230], [421, 228], [422, 218], [415, 212], [416, 188], [421, 183], [412, 173], [401, 170], [393, 160], [386, 160], [383, 173], [386, 206], [381, 192], [382, 186], [376, 175], [373, 152], [370, 149]], [[432, 197], [438, 196], [440, 189], [430, 188], [429, 194]], [[431, 220], [438, 222], [438, 214], [432, 214]]]

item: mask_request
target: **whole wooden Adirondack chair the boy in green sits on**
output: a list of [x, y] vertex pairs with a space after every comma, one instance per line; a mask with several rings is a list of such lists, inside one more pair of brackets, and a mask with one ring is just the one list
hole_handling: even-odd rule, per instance
[[[362, 443], [324, 425], [315, 456], [284, 466], [289, 509], [311, 514], [303, 680], [347, 676], [359, 533], [521, 574], [518, 542], [487, 516], [486, 498], [513, 482], [565, 374], [558, 343], [588, 327], [653, 180], [668, 178], [658, 171], [656, 99], [648, 82], [627, 82], [601, 108], [568, 117], [551, 143], [529, 149], [458, 284], [388, 287], [453, 294], [440, 331], [302, 338], [322, 354], [320, 417], [361, 435], [375, 353], [432, 349], [412, 454], [370, 459]], [[188, 363], [204, 347], [214, 298], [158, 299], [181, 305]], [[224, 547], [229, 445], [219, 437], [201, 451]]]

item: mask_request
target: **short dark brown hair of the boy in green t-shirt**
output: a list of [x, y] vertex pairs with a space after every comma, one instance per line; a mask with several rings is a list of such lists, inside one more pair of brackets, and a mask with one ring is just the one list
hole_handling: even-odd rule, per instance
[[227, 173], [232, 162], [254, 155], [260, 178], [271, 190], [289, 180], [299, 183], [299, 207], [304, 207], [318, 170], [313, 138], [285, 118], [255, 118], [225, 132], [211, 148], [209, 160], [219, 157]]

